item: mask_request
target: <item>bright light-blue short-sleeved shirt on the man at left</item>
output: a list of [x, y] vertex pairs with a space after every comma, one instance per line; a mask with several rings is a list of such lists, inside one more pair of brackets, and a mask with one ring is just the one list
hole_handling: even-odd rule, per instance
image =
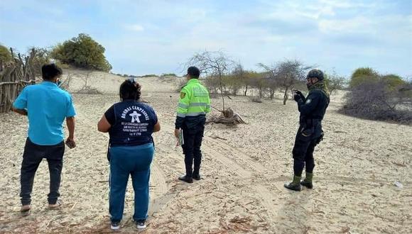
[[57, 145], [65, 138], [63, 121], [76, 115], [72, 96], [55, 83], [25, 87], [13, 103], [28, 113], [28, 138], [36, 145]]

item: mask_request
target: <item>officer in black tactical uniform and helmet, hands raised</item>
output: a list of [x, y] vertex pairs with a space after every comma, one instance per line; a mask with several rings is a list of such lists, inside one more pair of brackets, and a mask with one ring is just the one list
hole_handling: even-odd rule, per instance
[[[329, 91], [323, 81], [323, 72], [313, 69], [308, 72], [306, 86], [309, 94], [305, 98], [302, 92], [294, 89], [293, 99], [298, 103], [300, 112], [299, 129], [293, 147], [293, 182], [285, 184], [287, 189], [300, 191], [300, 184], [308, 189], [313, 188], [313, 150], [323, 138], [322, 119], [329, 105]], [[306, 177], [300, 182], [303, 167], [306, 165]]]

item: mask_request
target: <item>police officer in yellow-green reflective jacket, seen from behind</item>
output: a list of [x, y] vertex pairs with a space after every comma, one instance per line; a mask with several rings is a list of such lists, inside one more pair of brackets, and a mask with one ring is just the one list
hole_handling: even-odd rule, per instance
[[[188, 83], [180, 91], [178, 113], [175, 121], [175, 137], [183, 130], [183, 154], [185, 155], [186, 174], [180, 180], [193, 183], [200, 180], [200, 162], [202, 162], [203, 132], [205, 130], [206, 113], [210, 112], [209, 91], [200, 84], [200, 70], [189, 67], [186, 78]], [[193, 165], [193, 168], [192, 168]]]

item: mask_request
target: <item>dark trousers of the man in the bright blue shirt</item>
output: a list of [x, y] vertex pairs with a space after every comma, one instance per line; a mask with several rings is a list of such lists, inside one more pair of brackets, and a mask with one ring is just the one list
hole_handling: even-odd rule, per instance
[[62, 141], [57, 145], [36, 145], [27, 138], [24, 146], [23, 162], [21, 162], [21, 204], [30, 205], [31, 191], [33, 190], [34, 175], [38, 165], [45, 158], [48, 162], [50, 172], [50, 193], [48, 194], [48, 204], [55, 204], [58, 200], [60, 179], [63, 168], [63, 154], [65, 144]]

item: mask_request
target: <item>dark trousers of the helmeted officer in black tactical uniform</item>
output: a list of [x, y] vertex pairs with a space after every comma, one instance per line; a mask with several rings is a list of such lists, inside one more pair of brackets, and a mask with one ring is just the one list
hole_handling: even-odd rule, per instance
[[313, 173], [315, 168], [315, 160], [313, 159], [313, 151], [318, 145], [322, 136], [312, 133], [311, 135], [304, 135], [300, 132], [296, 134], [295, 145], [293, 146], [293, 173], [297, 177], [302, 176], [303, 168], [306, 166], [306, 172]]

